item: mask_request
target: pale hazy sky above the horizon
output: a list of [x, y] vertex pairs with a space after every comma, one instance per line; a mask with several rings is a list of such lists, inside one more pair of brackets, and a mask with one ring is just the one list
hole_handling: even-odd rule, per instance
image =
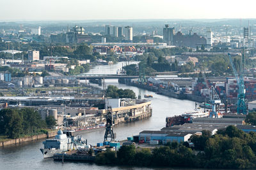
[[256, 18], [255, 0], [0, 0], [0, 20]]

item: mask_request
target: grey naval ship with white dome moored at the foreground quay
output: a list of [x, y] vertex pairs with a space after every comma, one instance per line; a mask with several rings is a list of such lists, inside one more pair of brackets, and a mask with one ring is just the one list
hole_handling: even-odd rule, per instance
[[74, 148], [86, 147], [87, 141], [81, 137], [74, 137], [74, 132], [75, 131], [59, 130], [54, 139], [46, 139], [43, 142], [44, 148], [40, 148], [44, 158], [50, 158], [56, 153], [67, 152], [68, 150], [72, 150]]

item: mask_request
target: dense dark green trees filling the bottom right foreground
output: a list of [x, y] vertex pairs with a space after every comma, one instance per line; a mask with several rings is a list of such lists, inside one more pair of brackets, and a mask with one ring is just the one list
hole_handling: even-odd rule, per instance
[[228, 126], [218, 134], [203, 131], [202, 136], [190, 139], [195, 150], [188, 143], [167, 143], [153, 150], [121, 146], [118, 152], [107, 150], [96, 155], [97, 164], [120, 164], [131, 166], [194, 167], [194, 168], [255, 168], [256, 133], [249, 134]]

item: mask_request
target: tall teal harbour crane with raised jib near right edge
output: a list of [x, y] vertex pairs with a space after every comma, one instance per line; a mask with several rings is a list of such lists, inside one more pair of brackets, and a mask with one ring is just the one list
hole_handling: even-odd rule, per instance
[[236, 76], [237, 85], [239, 87], [238, 88], [239, 91], [237, 94], [237, 114], [246, 115], [247, 108], [246, 108], [246, 104], [245, 104], [245, 89], [244, 89], [244, 49], [243, 49], [242, 60], [241, 60], [240, 76], [237, 73], [236, 67], [234, 65], [234, 62], [232, 60], [230, 53], [228, 53], [228, 57], [229, 57], [233, 72]]

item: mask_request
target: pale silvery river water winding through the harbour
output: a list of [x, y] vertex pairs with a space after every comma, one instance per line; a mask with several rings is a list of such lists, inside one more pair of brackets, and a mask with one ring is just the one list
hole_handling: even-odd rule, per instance
[[[132, 63], [134, 62], [129, 64]], [[111, 66], [95, 66], [87, 74], [115, 74], [116, 70], [122, 67], [122, 64], [125, 66], [126, 62], [119, 62]], [[113, 129], [117, 140], [127, 139], [127, 137], [139, 134], [143, 130], [159, 130], [164, 127], [167, 116], [180, 115], [184, 111], [193, 110], [195, 107], [195, 103], [192, 101], [161, 96], [148, 90], [119, 84], [117, 80], [106, 80], [106, 85], [116, 85], [118, 88], [131, 89], [136, 93], [136, 96], [141, 94], [142, 98], [144, 94], [153, 95], [153, 98], [150, 98], [153, 108], [152, 117], [140, 122], [117, 125]], [[104, 129], [80, 135], [88, 139], [88, 143], [95, 144], [103, 141]], [[148, 169], [141, 167], [97, 166], [81, 162], [65, 162], [62, 164], [52, 159], [43, 159], [39, 148], [42, 147], [42, 141], [44, 140], [0, 148], [0, 169]]]

